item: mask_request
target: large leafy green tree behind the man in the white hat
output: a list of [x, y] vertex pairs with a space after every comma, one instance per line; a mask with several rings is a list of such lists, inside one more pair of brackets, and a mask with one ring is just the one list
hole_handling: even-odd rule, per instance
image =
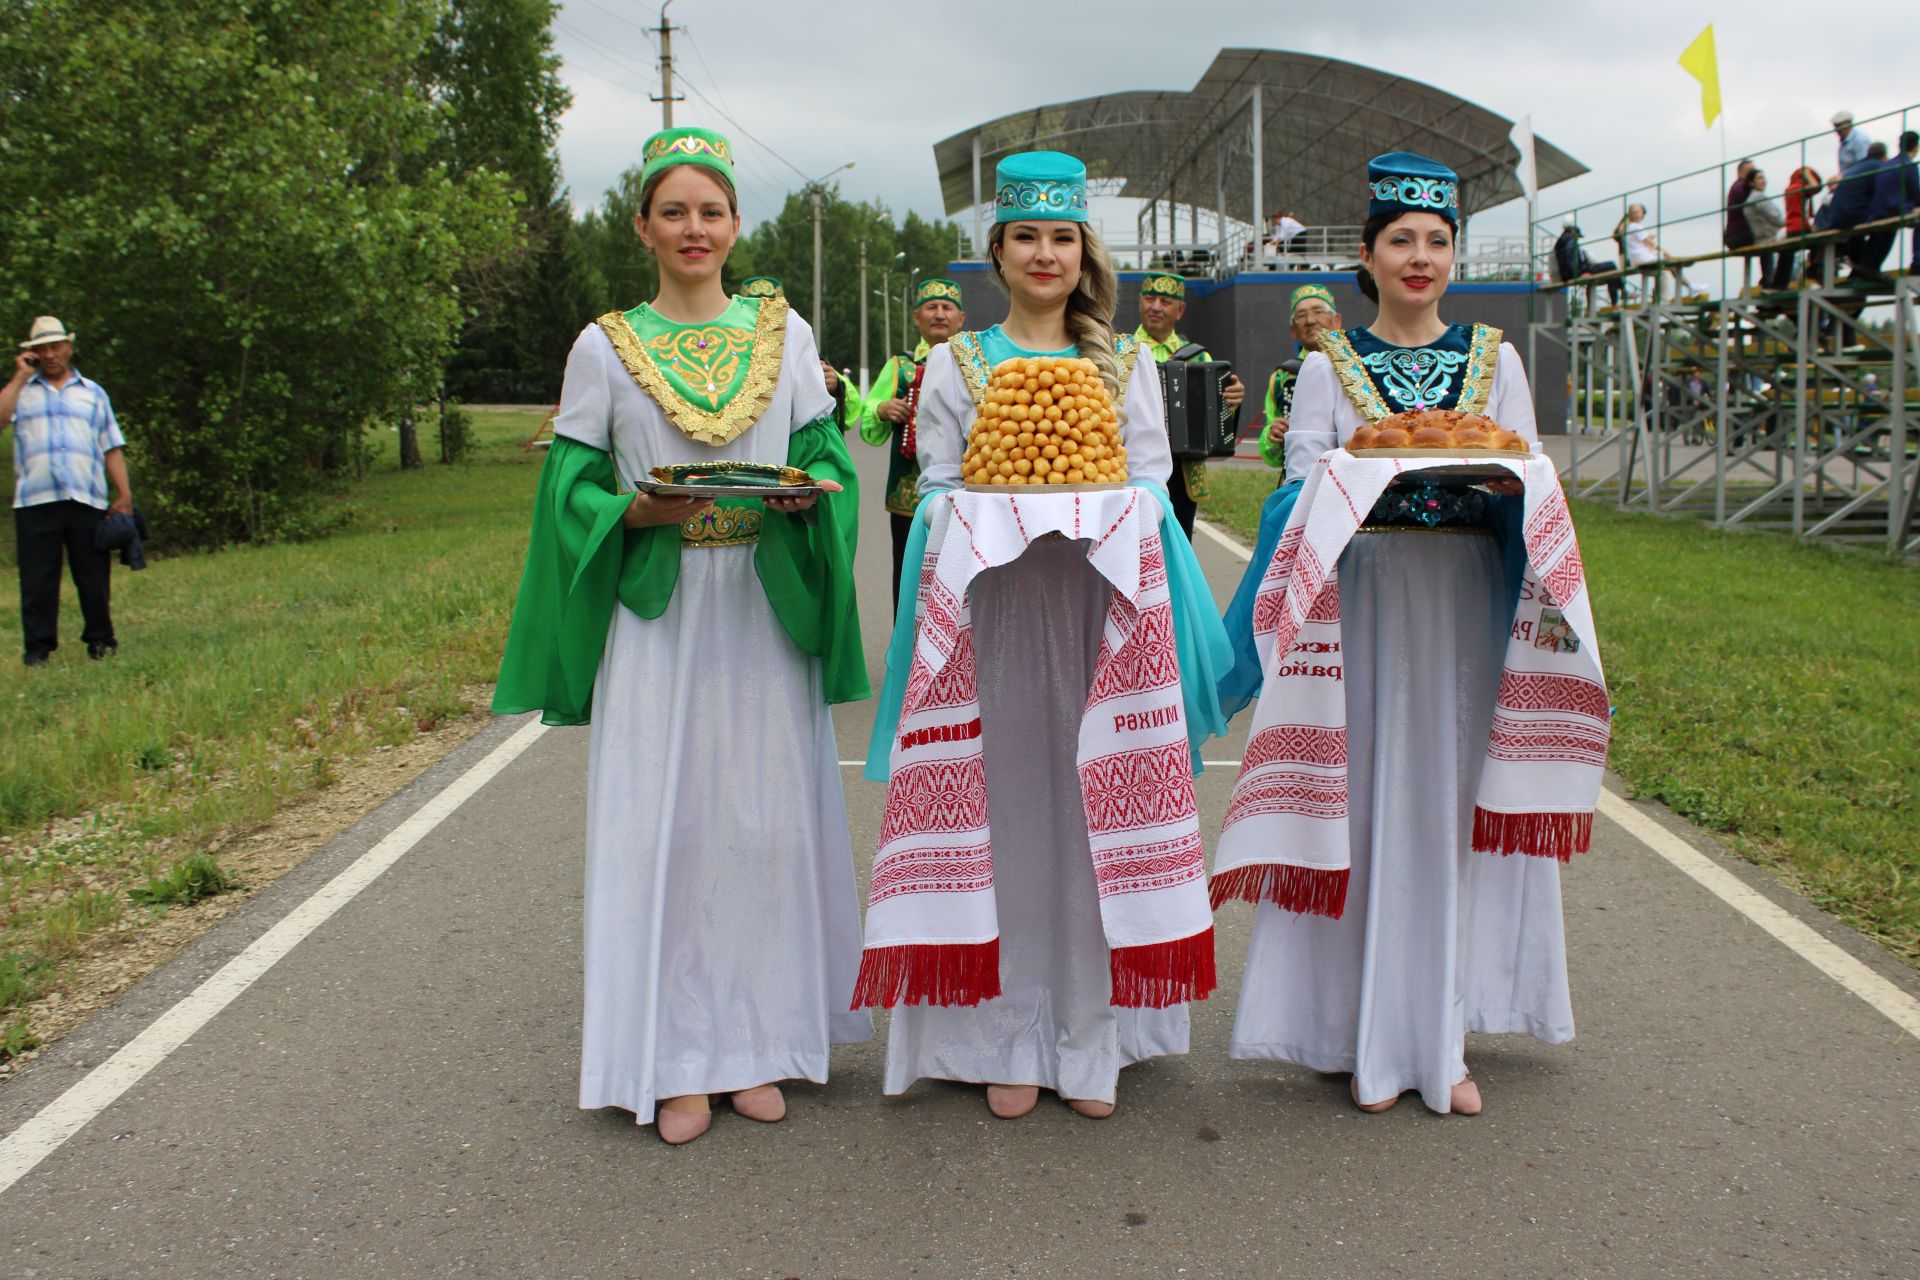
[[81, 334], [171, 537], [298, 532], [513, 244], [507, 182], [432, 155], [438, 6], [0, 6], [0, 317]]

